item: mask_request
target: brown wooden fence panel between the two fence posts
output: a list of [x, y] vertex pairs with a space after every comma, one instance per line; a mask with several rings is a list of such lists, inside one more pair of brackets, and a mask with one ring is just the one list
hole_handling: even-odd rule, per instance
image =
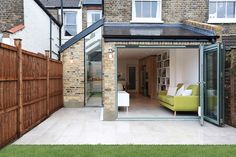
[[47, 58], [23, 51], [23, 131], [47, 117]]

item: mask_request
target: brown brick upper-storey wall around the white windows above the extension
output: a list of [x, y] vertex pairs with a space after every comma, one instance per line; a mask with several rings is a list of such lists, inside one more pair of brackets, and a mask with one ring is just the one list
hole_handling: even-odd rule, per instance
[[[194, 20], [207, 23], [209, 0], [162, 0], [164, 23], [180, 23]], [[130, 22], [132, 0], [104, 0], [104, 15], [108, 22]], [[220, 24], [223, 34], [236, 34], [236, 24]]]

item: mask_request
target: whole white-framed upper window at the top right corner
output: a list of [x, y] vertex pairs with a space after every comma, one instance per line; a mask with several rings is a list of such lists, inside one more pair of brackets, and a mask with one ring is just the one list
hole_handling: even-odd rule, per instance
[[236, 0], [210, 0], [209, 22], [236, 22]]

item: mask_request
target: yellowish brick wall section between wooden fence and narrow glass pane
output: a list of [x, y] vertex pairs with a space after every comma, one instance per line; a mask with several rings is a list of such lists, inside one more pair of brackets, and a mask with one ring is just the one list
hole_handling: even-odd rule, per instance
[[65, 107], [84, 106], [84, 40], [62, 53]]

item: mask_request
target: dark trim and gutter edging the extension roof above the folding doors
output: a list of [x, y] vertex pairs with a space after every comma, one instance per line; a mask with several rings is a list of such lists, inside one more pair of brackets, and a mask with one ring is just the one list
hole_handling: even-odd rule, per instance
[[219, 36], [215, 34], [212, 30], [207, 29], [201, 29], [197, 27], [192, 27], [185, 24], [130, 24], [130, 23], [105, 23], [104, 27], [106, 26], [112, 26], [114, 28], [119, 27], [139, 27], [143, 26], [145, 28], [153, 28], [153, 27], [169, 27], [169, 28], [175, 28], [179, 27], [182, 29], [186, 29], [189, 31], [192, 31], [194, 33], [198, 33], [199, 35], [189, 36], [189, 35], [161, 35], [161, 36], [150, 36], [150, 35], [130, 35], [130, 34], [123, 34], [123, 35], [106, 35], [104, 34], [104, 41], [105, 42], [158, 42], [158, 41], [164, 41], [164, 42], [212, 42], [214, 43]]

